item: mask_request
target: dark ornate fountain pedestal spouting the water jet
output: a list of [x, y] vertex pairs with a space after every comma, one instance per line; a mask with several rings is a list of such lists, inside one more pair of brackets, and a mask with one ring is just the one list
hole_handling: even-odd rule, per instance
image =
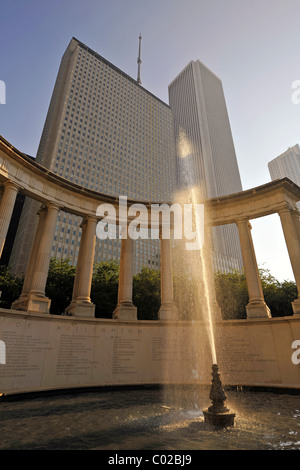
[[212, 385], [209, 398], [212, 401], [212, 405], [203, 410], [204, 420], [216, 427], [233, 426], [235, 413], [230, 413], [229, 408], [224, 405], [226, 395], [220, 380], [217, 364], [213, 364], [211, 375]]

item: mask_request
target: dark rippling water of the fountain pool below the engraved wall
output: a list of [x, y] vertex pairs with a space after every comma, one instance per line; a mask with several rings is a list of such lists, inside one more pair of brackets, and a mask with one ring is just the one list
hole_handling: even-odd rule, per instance
[[236, 419], [221, 432], [204, 422], [206, 387], [7, 397], [0, 450], [300, 450], [298, 393], [243, 388], [226, 395]]

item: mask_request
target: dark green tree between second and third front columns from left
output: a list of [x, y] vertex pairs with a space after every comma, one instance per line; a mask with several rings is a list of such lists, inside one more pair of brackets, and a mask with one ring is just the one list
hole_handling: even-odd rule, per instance
[[50, 313], [62, 315], [72, 300], [75, 266], [69, 259], [50, 260], [45, 294], [51, 299]]

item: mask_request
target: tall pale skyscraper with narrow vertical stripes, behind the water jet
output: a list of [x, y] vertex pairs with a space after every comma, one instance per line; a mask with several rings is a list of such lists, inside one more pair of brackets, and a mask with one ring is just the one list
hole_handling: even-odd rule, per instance
[[[178, 165], [181, 139], [189, 152], [193, 185], [203, 198], [242, 191], [221, 80], [199, 60], [191, 61], [169, 85], [169, 104], [174, 118]], [[188, 150], [187, 150], [188, 148]], [[184, 185], [184, 172], [178, 185]], [[242, 257], [235, 226], [212, 230], [214, 265], [222, 271], [240, 269]]]

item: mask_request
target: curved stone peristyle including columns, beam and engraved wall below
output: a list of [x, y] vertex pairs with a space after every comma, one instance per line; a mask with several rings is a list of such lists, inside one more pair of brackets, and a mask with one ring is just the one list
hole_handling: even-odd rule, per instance
[[[64, 180], [2, 137], [0, 182], [0, 247], [6, 238], [16, 194], [21, 191], [41, 203], [22, 294], [12, 309], [0, 309], [0, 393], [210, 382], [211, 353], [205, 325], [178, 321], [169, 240], [161, 240], [160, 320], [136, 319], [130, 239], [122, 240], [114, 318], [96, 319], [90, 284], [97, 207], [101, 203], [112, 204], [118, 215], [118, 198]], [[216, 322], [217, 358], [225, 384], [300, 388], [300, 300], [293, 302], [292, 317], [271, 317], [263, 298], [249, 223], [252, 218], [279, 214], [299, 292], [299, 199], [300, 189], [285, 178], [204, 201], [211, 225], [238, 226], [249, 292], [247, 320], [222, 321], [219, 317]], [[143, 204], [151, 209], [151, 202]], [[60, 209], [81, 216], [83, 231], [73, 299], [66, 315], [55, 316], [49, 315], [51, 299], [45, 297], [45, 284], [51, 236]]]

